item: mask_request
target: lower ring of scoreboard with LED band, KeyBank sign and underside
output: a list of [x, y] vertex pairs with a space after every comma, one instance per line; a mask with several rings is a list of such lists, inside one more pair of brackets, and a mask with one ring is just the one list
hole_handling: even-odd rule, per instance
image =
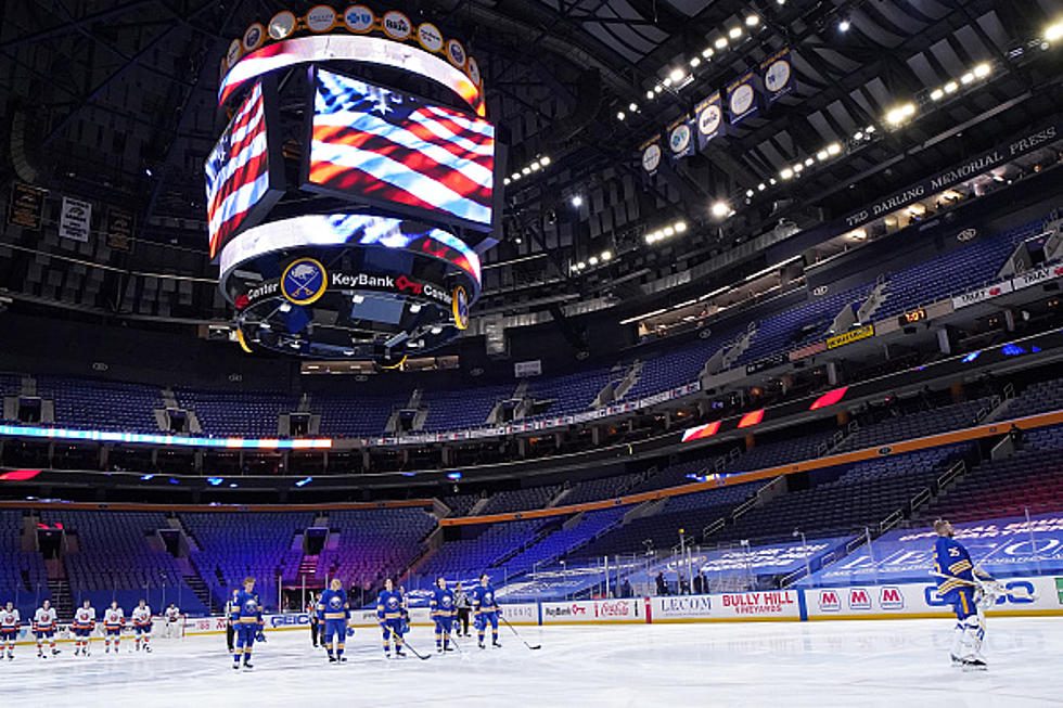
[[366, 214], [254, 227], [221, 253], [242, 346], [317, 359], [394, 360], [469, 326], [479, 260], [449, 232]]

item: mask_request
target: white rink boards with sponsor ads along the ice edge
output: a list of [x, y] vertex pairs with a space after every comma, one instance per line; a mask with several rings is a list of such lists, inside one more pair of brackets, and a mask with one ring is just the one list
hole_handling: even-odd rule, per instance
[[[1063, 577], [1008, 578], [1001, 582], [1009, 590], [1034, 597], [1000, 597], [996, 606], [988, 610], [990, 617], [1063, 616]], [[951, 608], [937, 596], [936, 585], [932, 582], [502, 605], [502, 617], [516, 626], [917, 619], [951, 616]], [[266, 615], [265, 623], [266, 630], [270, 632], [308, 631], [310, 616], [306, 613]], [[411, 608], [410, 625], [434, 627], [428, 608]], [[356, 629], [375, 629], [376, 610], [353, 610], [351, 626]], [[185, 620], [185, 636], [225, 633], [223, 617]], [[99, 641], [99, 630], [93, 634]], [[156, 641], [167, 641], [162, 639], [158, 622], [154, 626], [152, 635]], [[61, 626], [56, 632], [56, 641], [66, 643], [73, 639], [68, 627]], [[124, 641], [132, 639], [133, 634], [128, 630], [123, 635]], [[21, 628], [17, 643], [34, 643], [28, 626]]]

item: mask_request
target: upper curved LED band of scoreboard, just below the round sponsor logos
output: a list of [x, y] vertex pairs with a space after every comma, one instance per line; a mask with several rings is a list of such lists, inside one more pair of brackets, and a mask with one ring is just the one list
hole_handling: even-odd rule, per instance
[[358, 35], [297, 37], [257, 49], [226, 75], [218, 89], [218, 103], [225, 103], [244, 83], [269, 72], [296, 64], [334, 61], [380, 64], [424, 76], [453, 91], [476, 115], [487, 115], [483, 90], [451, 63], [417, 47]]

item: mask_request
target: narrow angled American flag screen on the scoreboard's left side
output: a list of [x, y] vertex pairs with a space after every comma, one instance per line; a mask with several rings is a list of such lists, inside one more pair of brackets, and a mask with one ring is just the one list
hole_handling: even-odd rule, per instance
[[241, 104], [204, 169], [213, 258], [269, 190], [261, 83]]

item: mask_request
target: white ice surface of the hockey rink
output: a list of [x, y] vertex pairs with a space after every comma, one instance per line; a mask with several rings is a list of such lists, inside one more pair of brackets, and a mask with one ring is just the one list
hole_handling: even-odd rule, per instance
[[[503, 628], [502, 648], [386, 660], [359, 630], [330, 665], [306, 631], [274, 631], [233, 671], [225, 638], [159, 640], [150, 655], [17, 647], [0, 668], [12, 706], [1059, 706], [1063, 618], [990, 618], [989, 670], [948, 662], [947, 620]], [[427, 628], [410, 641], [433, 651]]]

